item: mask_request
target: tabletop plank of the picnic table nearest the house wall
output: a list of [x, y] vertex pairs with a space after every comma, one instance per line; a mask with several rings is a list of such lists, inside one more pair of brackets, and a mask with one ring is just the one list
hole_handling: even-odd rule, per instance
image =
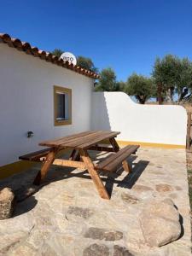
[[54, 147], [57, 145], [60, 145], [61, 143], [65, 143], [65, 142], [69, 142], [70, 140], [73, 140], [75, 138], [78, 137], [84, 137], [88, 134], [94, 133], [96, 131], [84, 131], [84, 132], [79, 132], [73, 135], [68, 135], [66, 137], [60, 137], [60, 138], [55, 138], [53, 140], [49, 140], [49, 141], [44, 141], [39, 143], [40, 146], [48, 146], [48, 147]]

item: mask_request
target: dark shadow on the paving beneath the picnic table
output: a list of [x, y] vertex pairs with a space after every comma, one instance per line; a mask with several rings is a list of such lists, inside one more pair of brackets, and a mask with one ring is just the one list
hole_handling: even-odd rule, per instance
[[[105, 159], [104, 156], [103, 159]], [[131, 166], [133, 166], [132, 172], [128, 173], [122, 180], [117, 179], [121, 176], [122, 172], [124, 172], [122, 167], [119, 168], [117, 172], [100, 172], [100, 177], [102, 178], [102, 181], [105, 182], [105, 187], [108, 190], [108, 194], [110, 196], [113, 192], [114, 183], [116, 183], [119, 187], [131, 189], [132, 186], [137, 182], [137, 179], [142, 175], [149, 162], [146, 160], [139, 160], [137, 163], [134, 163], [136, 159], [136, 155], [131, 155], [128, 158], [129, 163]], [[99, 160], [102, 160], [102, 158], [100, 157]], [[78, 172], [73, 172], [77, 169], [62, 166], [52, 166], [48, 172], [47, 177], [44, 179], [44, 183], [42, 183], [40, 186], [35, 186], [32, 184], [32, 182], [34, 177], [36, 177], [39, 169], [40, 165], [36, 166], [35, 169], [30, 169], [26, 172], [20, 172], [15, 174], [13, 177], [9, 177], [0, 182], [0, 189], [9, 187], [15, 193], [17, 207], [15, 209], [14, 216], [18, 216], [25, 212], [31, 211], [32, 208], [38, 204], [37, 199], [33, 195], [49, 183], [68, 179], [71, 177], [91, 179], [89, 173], [86, 170], [78, 170]]]

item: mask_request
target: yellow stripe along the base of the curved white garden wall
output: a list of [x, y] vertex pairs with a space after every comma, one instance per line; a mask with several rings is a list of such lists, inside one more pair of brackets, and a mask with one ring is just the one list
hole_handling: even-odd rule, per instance
[[173, 145], [173, 144], [163, 144], [163, 143], [142, 143], [142, 142], [127, 142], [117, 140], [119, 146], [126, 145], [140, 145], [141, 147], [150, 147], [150, 148], [186, 148], [185, 145]]

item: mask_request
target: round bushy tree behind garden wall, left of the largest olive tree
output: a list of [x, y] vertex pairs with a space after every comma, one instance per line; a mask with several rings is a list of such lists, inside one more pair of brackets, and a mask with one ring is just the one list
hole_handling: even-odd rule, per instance
[[153, 79], [133, 73], [125, 84], [125, 92], [135, 96], [137, 101], [144, 104], [149, 98], [156, 95]]

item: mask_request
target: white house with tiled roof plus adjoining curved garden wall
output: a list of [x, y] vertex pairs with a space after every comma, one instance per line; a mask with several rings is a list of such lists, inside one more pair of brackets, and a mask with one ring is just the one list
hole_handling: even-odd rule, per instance
[[0, 78], [0, 178], [26, 168], [18, 156], [41, 149], [39, 142], [91, 129], [121, 131], [124, 144], [185, 147], [184, 108], [93, 93], [95, 73], [8, 34], [0, 34]]

